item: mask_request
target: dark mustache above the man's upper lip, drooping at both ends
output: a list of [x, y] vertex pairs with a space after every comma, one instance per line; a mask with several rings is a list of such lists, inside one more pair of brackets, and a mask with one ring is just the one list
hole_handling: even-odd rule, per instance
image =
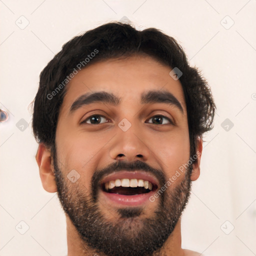
[[166, 180], [166, 176], [162, 170], [158, 170], [155, 168], [150, 167], [146, 163], [136, 160], [133, 162], [127, 162], [123, 160], [115, 161], [110, 163], [108, 166], [97, 169], [92, 177], [91, 177], [91, 193], [92, 199], [95, 202], [97, 199], [97, 192], [99, 188], [99, 181], [102, 179], [103, 176], [108, 175], [112, 172], [120, 171], [120, 170], [127, 170], [127, 171], [134, 171], [134, 170], [143, 170], [153, 174], [160, 184], [160, 187], [163, 186]]

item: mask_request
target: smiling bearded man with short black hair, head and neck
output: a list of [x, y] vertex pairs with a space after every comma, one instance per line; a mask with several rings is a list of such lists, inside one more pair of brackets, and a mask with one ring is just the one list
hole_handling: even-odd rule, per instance
[[160, 30], [111, 22], [63, 45], [40, 73], [32, 123], [68, 256], [199, 255], [181, 248], [180, 217], [214, 109]]

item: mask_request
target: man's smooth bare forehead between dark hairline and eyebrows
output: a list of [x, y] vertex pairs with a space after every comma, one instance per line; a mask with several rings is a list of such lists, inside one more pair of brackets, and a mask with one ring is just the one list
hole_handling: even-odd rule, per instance
[[[171, 69], [149, 56], [131, 56], [93, 63], [80, 70], [66, 85], [60, 110], [67, 112], [74, 109], [79, 99], [84, 101], [95, 92], [98, 93], [94, 97], [104, 100], [108, 97], [108, 101], [116, 106], [125, 103], [130, 106], [133, 103], [153, 103], [154, 100], [150, 101], [153, 97], [148, 98], [148, 92], [157, 91], [154, 98], [158, 96], [158, 101], [162, 99], [165, 103], [170, 98], [173, 105], [180, 105], [180, 110], [185, 113], [183, 89], [179, 80], [174, 80], [169, 75]], [[107, 95], [103, 95], [103, 91]], [[92, 98], [93, 96], [88, 102]]]

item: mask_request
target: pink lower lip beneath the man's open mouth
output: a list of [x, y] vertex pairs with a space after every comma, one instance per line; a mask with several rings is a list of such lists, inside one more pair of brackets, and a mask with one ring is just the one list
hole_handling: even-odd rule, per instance
[[150, 202], [149, 197], [154, 194], [153, 191], [148, 193], [136, 194], [136, 195], [124, 195], [116, 193], [107, 193], [102, 191], [103, 195], [111, 201], [111, 203], [128, 205], [128, 206], [138, 206]]

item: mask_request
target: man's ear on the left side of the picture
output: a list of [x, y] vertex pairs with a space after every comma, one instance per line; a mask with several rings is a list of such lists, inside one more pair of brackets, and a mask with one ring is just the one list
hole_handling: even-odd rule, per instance
[[51, 164], [50, 150], [46, 148], [43, 143], [39, 144], [35, 159], [39, 167], [39, 174], [43, 188], [47, 192], [56, 192], [57, 186], [53, 172], [53, 165]]

